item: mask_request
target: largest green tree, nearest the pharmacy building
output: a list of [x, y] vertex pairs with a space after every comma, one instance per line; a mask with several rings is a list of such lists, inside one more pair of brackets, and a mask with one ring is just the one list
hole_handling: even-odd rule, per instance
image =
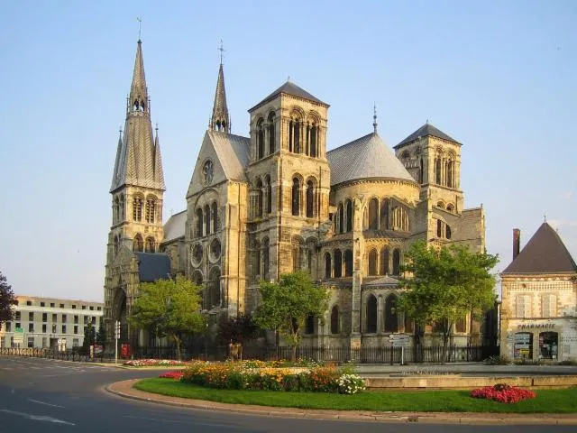
[[[398, 308], [416, 322], [416, 333], [435, 324], [443, 333], [445, 361], [453, 324], [467, 314], [480, 316], [495, 302], [495, 277], [490, 274], [497, 255], [472, 253], [466, 246], [427, 247], [419, 241], [406, 254], [399, 286]], [[417, 335], [417, 334], [416, 334]]]

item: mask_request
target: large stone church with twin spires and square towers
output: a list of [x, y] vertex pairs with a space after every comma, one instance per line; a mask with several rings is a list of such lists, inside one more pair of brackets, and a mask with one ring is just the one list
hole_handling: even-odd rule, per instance
[[[163, 224], [160, 141], [138, 41], [110, 187], [107, 336], [120, 320], [122, 341], [150, 344], [126, 323], [139, 282], [187, 276], [215, 323], [252, 313], [259, 281], [296, 270], [331, 293], [324, 320], [307, 319], [302, 345], [375, 347], [414, 331], [396, 309], [409, 246], [485, 249], [483, 209], [464, 207], [462, 143], [426, 123], [390, 148], [375, 115], [368, 134], [329, 146], [328, 108], [287, 81], [248, 110], [248, 137], [232, 134], [221, 60], [186, 209]], [[466, 318], [455, 324], [456, 337], [478, 332]]]

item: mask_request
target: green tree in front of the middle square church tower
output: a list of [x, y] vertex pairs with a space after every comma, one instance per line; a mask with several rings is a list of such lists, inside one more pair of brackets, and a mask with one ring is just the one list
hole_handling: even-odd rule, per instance
[[280, 275], [279, 282], [261, 281], [259, 290], [262, 299], [254, 321], [262, 329], [273, 329], [283, 336], [292, 347], [294, 360], [300, 328], [309, 315], [324, 321], [330, 295], [301, 271]]

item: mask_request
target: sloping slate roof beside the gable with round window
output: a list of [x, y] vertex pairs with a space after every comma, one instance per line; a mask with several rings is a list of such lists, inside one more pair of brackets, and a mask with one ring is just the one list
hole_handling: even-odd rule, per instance
[[219, 131], [207, 131], [215, 148], [224, 175], [229, 180], [246, 180], [244, 167], [249, 164], [251, 139]]

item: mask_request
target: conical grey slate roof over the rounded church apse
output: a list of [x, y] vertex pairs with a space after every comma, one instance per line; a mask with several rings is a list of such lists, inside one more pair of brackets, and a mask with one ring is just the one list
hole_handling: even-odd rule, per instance
[[415, 181], [376, 133], [326, 152], [326, 158], [331, 168], [331, 186], [367, 178]]

